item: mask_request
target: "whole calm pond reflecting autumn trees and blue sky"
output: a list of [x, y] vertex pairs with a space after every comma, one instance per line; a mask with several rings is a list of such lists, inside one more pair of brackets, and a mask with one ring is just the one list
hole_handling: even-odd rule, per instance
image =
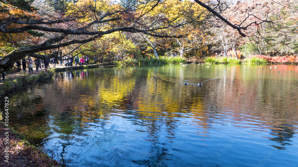
[[60, 72], [7, 95], [10, 125], [69, 166], [298, 166], [298, 67], [206, 66]]

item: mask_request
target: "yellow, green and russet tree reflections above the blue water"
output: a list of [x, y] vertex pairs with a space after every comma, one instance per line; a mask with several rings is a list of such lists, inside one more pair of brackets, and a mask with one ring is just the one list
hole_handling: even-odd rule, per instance
[[[214, 120], [225, 125], [230, 119], [243, 122], [243, 126], [257, 125], [254, 130], [285, 136], [286, 124], [297, 125], [287, 119], [293, 117], [292, 114], [297, 115], [298, 99], [294, 94], [298, 89], [297, 81], [288, 82], [285, 76], [272, 75], [269, 71], [252, 72], [245, 66], [223, 65], [208, 69], [198, 65], [183, 68], [167, 65], [131, 67], [125, 71], [119, 67], [91, 72], [65, 71], [57, 73], [52, 84], [38, 87], [32, 95], [28, 90], [28, 95], [22, 98], [35, 99], [34, 107], [30, 101], [14, 97], [16, 107], [24, 107], [16, 111], [20, 114], [30, 111], [16, 120], [38, 119], [35, 123], [45, 127], [53, 116], [55, 131], [66, 137], [84, 133], [82, 129], [89, 127], [88, 124], [108, 122], [115, 114], [133, 125], [146, 127], [152, 142], [160, 137], [167, 137], [171, 142], [183, 118], [192, 118], [191, 124], [198, 127], [197, 133], [201, 136], [208, 135], [207, 130]], [[197, 84], [215, 77], [219, 78], [203, 82], [201, 88], [184, 85], [184, 82]], [[34, 112], [38, 114], [30, 116]], [[261, 125], [260, 121], [263, 121]], [[168, 136], [159, 136], [161, 130], [166, 130]], [[282, 145], [291, 137], [272, 140]]]

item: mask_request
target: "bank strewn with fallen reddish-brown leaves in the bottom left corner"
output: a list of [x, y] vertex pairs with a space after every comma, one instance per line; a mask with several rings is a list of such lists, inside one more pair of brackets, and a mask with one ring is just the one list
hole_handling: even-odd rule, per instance
[[30, 145], [21, 133], [2, 121], [0, 121], [0, 142], [0, 166], [60, 166], [56, 160], [50, 158], [41, 149]]

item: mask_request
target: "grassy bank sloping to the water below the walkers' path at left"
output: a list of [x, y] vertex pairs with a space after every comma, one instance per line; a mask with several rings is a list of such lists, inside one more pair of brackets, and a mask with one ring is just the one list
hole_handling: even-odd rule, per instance
[[49, 71], [41, 71], [39, 74], [34, 76], [29, 76], [26, 74], [20, 74], [18, 78], [15, 78], [12, 81], [4, 81], [2, 85], [0, 85], [0, 96], [2, 96], [5, 93], [8, 93], [12, 90], [23, 88], [25, 86], [31, 85], [37, 81], [40, 81], [42, 79], [47, 79], [51, 77], [54, 74], [54, 70]]

